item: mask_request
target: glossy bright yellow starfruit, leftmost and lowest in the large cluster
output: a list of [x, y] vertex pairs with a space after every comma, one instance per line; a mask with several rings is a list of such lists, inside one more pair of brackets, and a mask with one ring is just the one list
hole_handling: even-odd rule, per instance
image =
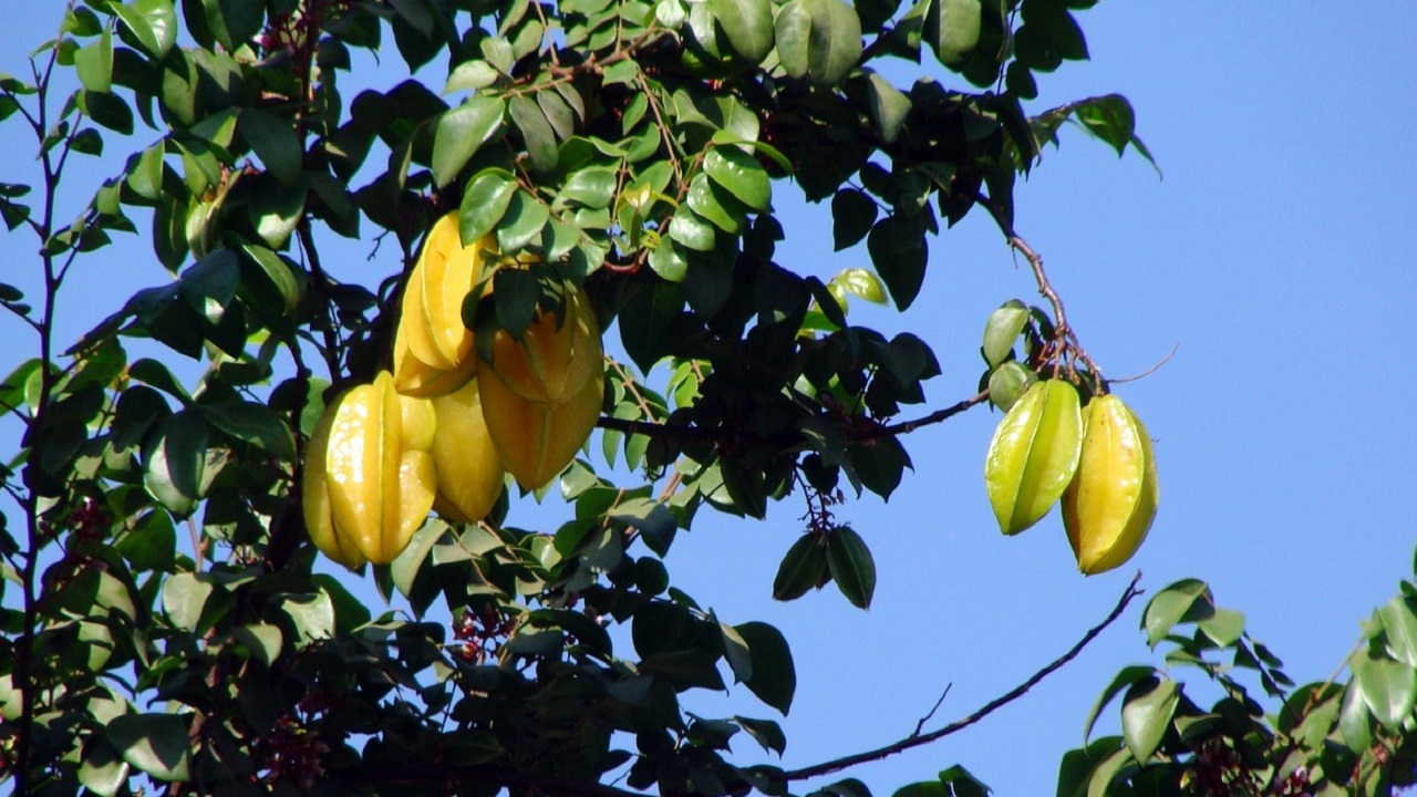
[[326, 556], [353, 569], [408, 547], [434, 503], [436, 423], [432, 403], [400, 396], [387, 372], [326, 408], [302, 484], [305, 525]]

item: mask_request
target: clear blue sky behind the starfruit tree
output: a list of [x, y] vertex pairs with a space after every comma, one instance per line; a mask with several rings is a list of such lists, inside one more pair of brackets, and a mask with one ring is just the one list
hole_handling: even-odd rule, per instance
[[[24, 71], [24, 52], [52, 31], [58, 7], [11, 10], [0, 71]], [[701, 516], [667, 564], [721, 618], [765, 620], [791, 640], [798, 695], [784, 723], [784, 766], [907, 735], [947, 684], [935, 722], [972, 712], [1071, 645], [1136, 569], [1152, 591], [1186, 576], [1209, 580], [1299, 682], [1326, 678], [1357, 640], [1357, 623], [1411, 574], [1417, 10], [1102, 3], [1078, 18], [1093, 61], [1044, 77], [1030, 111], [1125, 94], [1165, 179], [1066, 130], [1063, 147], [1020, 183], [1017, 227], [1110, 377], [1144, 372], [1179, 346], [1155, 374], [1117, 389], [1156, 438], [1159, 518], [1131, 564], [1093, 579], [1077, 574], [1056, 516], [1002, 537], [982, 482], [999, 416], [985, 408], [913, 434], [915, 472], [890, 503], [866, 498], [839, 513], [876, 553], [869, 613], [835, 591], [771, 601], [777, 562], [799, 529], [795, 499], [762, 523]], [[13, 182], [27, 167], [16, 153], [33, 143], [6, 123], [0, 146], [11, 153], [0, 180]], [[112, 157], [103, 163], [95, 180], [116, 170]], [[791, 206], [791, 193], [777, 187], [788, 207], [784, 265], [822, 275], [866, 265], [862, 251], [830, 252], [826, 208]], [[65, 329], [77, 333], [133, 288], [164, 279], [137, 244], [81, 267], [69, 305], [81, 318]], [[30, 251], [27, 238], [0, 238], [0, 279], [30, 284], [20, 274]], [[925, 289], [908, 313], [863, 308], [853, 321], [913, 329], [935, 349], [944, 374], [927, 390], [938, 407], [975, 391], [983, 321], [1013, 296], [1037, 301], [1026, 265], [988, 218], [971, 217], [931, 243]], [[0, 322], [0, 333], [20, 332]], [[0, 370], [20, 356], [13, 345]], [[1061, 753], [1080, 745], [1111, 675], [1159, 662], [1136, 631], [1139, 610], [1141, 601], [1073, 665], [979, 726], [853, 774], [888, 796], [961, 763], [998, 794], [1050, 794]], [[743, 689], [693, 708], [771, 712]], [[1101, 730], [1110, 728], [1115, 710]], [[747, 739], [735, 747], [744, 763], [764, 760]]]

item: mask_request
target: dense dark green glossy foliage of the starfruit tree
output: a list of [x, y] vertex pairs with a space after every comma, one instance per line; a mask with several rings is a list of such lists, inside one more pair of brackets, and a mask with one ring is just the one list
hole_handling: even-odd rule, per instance
[[[786, 794], [1022, 695], [1029, 684], [966, 720], [802, 770], [745, 762], [743, 745], [730, 756], [737, 736], [771, 760], [782, 729], [694, 716], [682, 696], [731, 678], [762, 713], [786, 713], [791, 648], [676, 589], [669, 554], [700, 511], [761, 518], [795, 495], [806, 528], [772, 594], [835, 583], [866, 607], [870, 550], [832, 506], [890, 496], [910, 431], [990, 393], [1003, 404], [1040, 374], [1105, 390], [1013, 230], [1015, 179], [1064, 122], [1148, 156], [1121, 96], [1024, 111], [1039, 72], [1087, 57], [1074, 11], [1091, 4], [64, 9], [27, 77], [0, 75], [0, 119], [37, 146], [34, 169], [11, 159], [0, 176], [6, 245], [37, 251], [11, 268], [40, 274], [37, 295], [0, 285], [33, 333], [0, 386], [23, 435], [0, 469], [13, 501], [3, 777], [23, 794], [105, 797]], [[401, 58], [407, 75], [446, 64], [446, 84], [341, 92], [359, 51]], [[903, 61], [942, 77], [896, 85], [884, 65]], [[102, 184], [65, 180], [115, 149], [126, 162]], [[799, 200], [828, 201], [836, 247], [864, 241], [874, 271], [822, 278], [779, 252], [777, 208]], [[849, 323], [847, 308], [905, 311], [931, 237], [979, 210], [1047, 306], [1009, 306], [1007, 333], [990, 326], [976, 396], [900, 420], [927, 403], [935, 357], [915, 335]], [[347, 557], [349, 574], [317, 562], [305, 528], [309, 441], [327, 403], [394, 364], [408, 277], [449, 213], [461, 241], [510, 258], [495, 289], [453, 296], [479, 346], [565, 318], [584, 295], [626, 362], [605, 359], [599, 431], [546, 488], [567, 499], [564, 523], [504, 523], [529, 499], [509, 485], [486, 519], [441, 512], [390, 564]], [[116, 233], [149, 240], [173, 279], [57, 339], [72, 265]], [[339, 281], [322, 264], [332, 237], [390, 247], [400, 268]], [[179, 357], [201, 363], [194, 381]], [[368, 576], [397, 610], [351, 594]], [[1067, 753], [1060, 794], [1383, 794], [1413, 780], [1417, 586], [1374, 615], [1349, 679], [1298, 689], [1200, 581], [1159, 591], [1144, 628], [1223, 698], [1206, 710], [1168, 672], [1122, 669], [1098, 710], [1119, 696], [1124, 735]], [[1281, 699], [1277, 713], [1241, 669]], [[867, 793], [850, 779], [822, 788]], [[982, 791], [952, 767], [898, 794]]]

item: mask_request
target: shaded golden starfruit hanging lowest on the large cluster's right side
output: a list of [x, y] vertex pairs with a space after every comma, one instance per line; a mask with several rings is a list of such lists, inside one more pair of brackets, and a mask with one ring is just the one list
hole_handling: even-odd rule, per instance
[[485, 369], [478, 376], [482, 416], [502, 465], [527, 489], [550, 482], [575, 458], [601, 417], [604, 360], [567, 401], [531, 401]]

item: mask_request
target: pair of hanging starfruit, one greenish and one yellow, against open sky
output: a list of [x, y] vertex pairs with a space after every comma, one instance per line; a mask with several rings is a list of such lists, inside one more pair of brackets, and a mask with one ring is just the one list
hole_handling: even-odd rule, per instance
[[[999, 312], [1016, 309], [1005, 305]], [[986, 357], [999, 353], [996, 346], [989, 350], [988, 329]], [[1117, 396], [1093, 396], [1084, 407], [1077, 386], [1037, 381], [1012, 359], [992, 363], [990, 394], [998, 374], [1013, 369], [1024, 374], [1006, 377], [1003, 387], [1019, 387], [1005, 397], [1007, 411], [985, 459], [999, 529], [1016, 535], [1061, 503], [1078, 569], [1091, 576], [1119, 567], [1156, 519], [1156, 459], [1146, 427]]]

